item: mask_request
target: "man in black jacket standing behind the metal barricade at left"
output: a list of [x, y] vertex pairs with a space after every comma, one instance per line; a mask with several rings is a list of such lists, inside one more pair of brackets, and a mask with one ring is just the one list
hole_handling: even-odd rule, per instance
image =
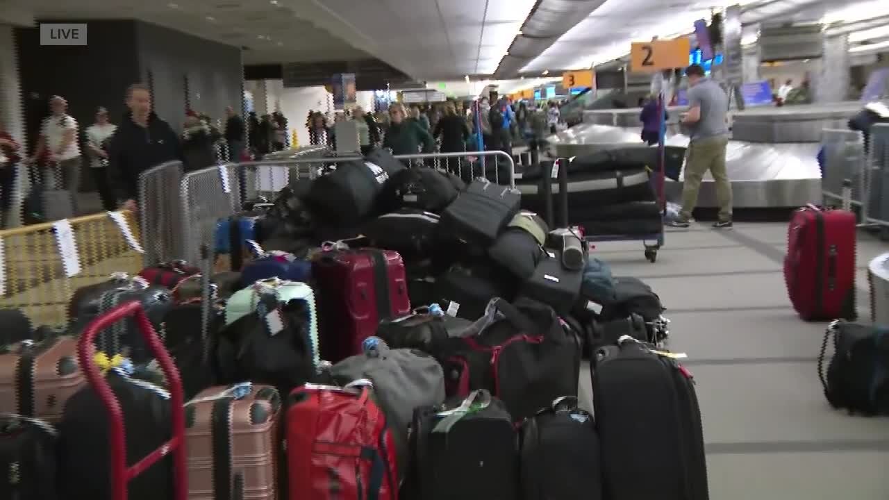
[[108, 176], [123, 207], [135, 211], [139, 174], [162, 163], [181, 160], [179, 137], [151, 110], [148, 87], [133, 84], [126, 91], [129, 111], [108, 146]]

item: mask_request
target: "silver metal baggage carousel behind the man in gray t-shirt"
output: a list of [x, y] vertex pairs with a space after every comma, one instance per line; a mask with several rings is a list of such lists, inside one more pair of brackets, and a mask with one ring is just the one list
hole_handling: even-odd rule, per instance
[[[733, 113], [732, 140], [726, 167], [732, 179], [733, 205], [745, 208], [783, 208], [821, 203], [821, 170], [817, 154], [824, 128], [846, 128], [861, 109], [849, 102], [831, 107], [793, 106]], [[642, 129], [640, 109], [600, 109], [583, 113], [583, 123], [549, 137], [554, 157], [586, 155], [616, 144], [638, 144]], [[666, 144], [688, 146], [688, 136], [678, 125], [683, 108], [669, 108]], [[682, 194], [679, 181], [667, 181], [669, 201]], [[701, 185], [698, 206], [717, 206], [716, 190], [709, 173]]]

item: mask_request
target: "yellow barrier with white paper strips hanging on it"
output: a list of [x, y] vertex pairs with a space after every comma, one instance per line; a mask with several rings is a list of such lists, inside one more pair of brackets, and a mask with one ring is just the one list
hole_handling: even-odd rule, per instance
[[[140, 241], [135, 218], [124, 220]], [[31, 323], [62, 326], [68, 321], [68, 301], [81, 286], [108, 279], [115, 272], [131, 276], [142, 269], [142, 254], [127, 243], [124, 233], [108, 214], [68, 219], [77, 246], [81, 271], [65, 276], [52, 222], [0, 230], [3, 241], [5, 287], [0, 307], [18, 308]]]

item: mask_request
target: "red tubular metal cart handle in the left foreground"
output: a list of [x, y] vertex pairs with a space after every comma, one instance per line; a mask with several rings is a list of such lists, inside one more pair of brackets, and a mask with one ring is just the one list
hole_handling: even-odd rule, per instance
[[[139, 333], [145, 339], [148, 348], [157, 359], [164, 376], [170, 386], [170, 414], [172, 417], [172, 439], [165, 442], [155, 451], [143, 457], [136, 464], [126, 466], [126, 441], [124, 429], [124, 415], [120, 404], [111, 388], [108, 387], [105, 377], [92, 359], [92, 343], [99, 333], [114, 325], [117, 321], [133, 317]], [[139, 302], [124, 302], [116, 308], [109, 310], [86, 326], [84, 334], [77, 341], [77, 360], [84, 370], [87, 381], [99, 394], [102, 404], [108, 412], [109, 426], [109, 455], [111, 457], [111, 500], [127, 500], [127, 483], [145, 472], [148, 467], [172, 453], [173, 469], [173, 496], [172, 500], [187, 500], [188, 481], [186, 479], [187, 465], [185, 460], [185, 410], [182, 397], [182, 383], [179, 370], [173, 365], [172, 359], [164, 349], [164, 345], [155, 334], [154, 327], [148, 321], [148, 316]]]

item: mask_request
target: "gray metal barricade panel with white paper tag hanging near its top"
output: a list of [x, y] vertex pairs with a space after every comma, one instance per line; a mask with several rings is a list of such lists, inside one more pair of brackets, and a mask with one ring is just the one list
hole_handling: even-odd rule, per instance
[[238, 165], [208, 166], [182, 176], [179, 189], [180, 239], [182, 251], [176, 256], [187, 262], [200, 262], [202, 244], [212, 248], [216, 222], [240, 211]]

